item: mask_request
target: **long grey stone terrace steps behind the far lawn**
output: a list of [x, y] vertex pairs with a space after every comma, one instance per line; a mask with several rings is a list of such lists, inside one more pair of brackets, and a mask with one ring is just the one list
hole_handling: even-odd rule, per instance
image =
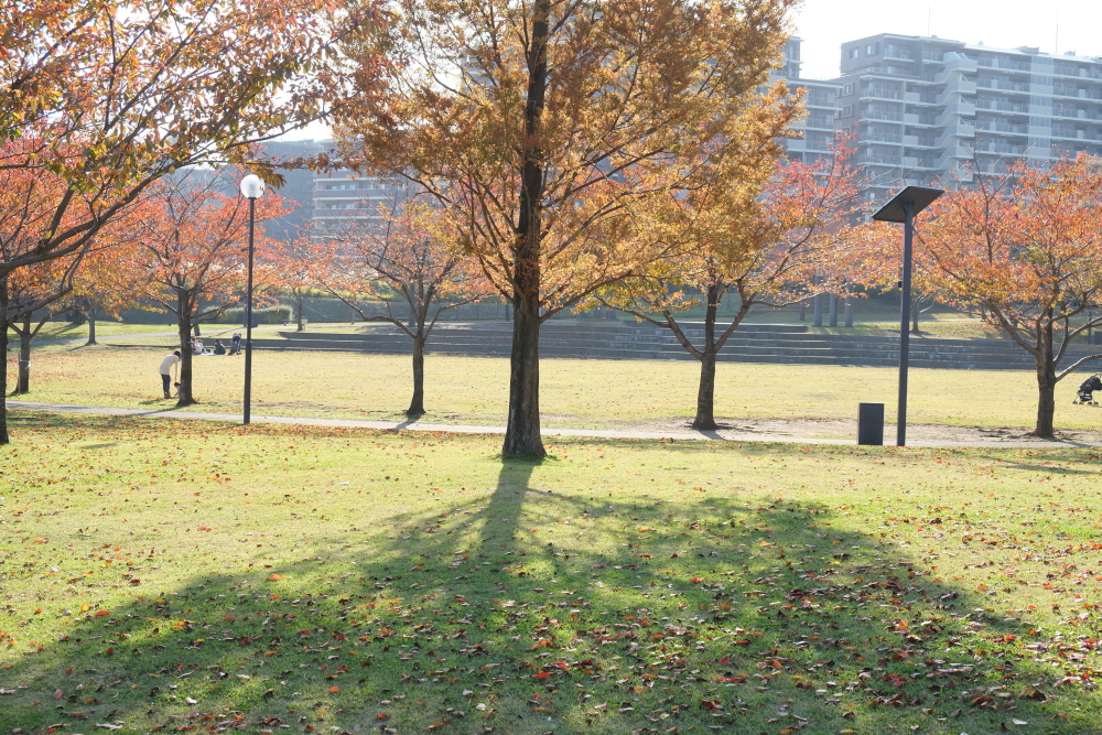
[[[699, 342], [699, 325], [687, 334]], [[253, 339], [258, 349], [306, 349], [409, 354], [411, 341], [393, 326], [369, 333], [281, 332], [282, 339]], [[744, 324], [720, 353], [721, 361], [789, 365], [898, 365], [898, 337], [821, 335], [799, 325]], [[511, 348], [508, 322], [440, 324], [429, 338], [429, 353], [507, 356]], [[693, 359], [672, 334], [650, 325], [614, 326], [544, 324], [540, 336], [543, 357], [603, 359]], [[1069, 350], [1068, 361], [1089, 354], [1087, 346]], [[954, 369], [1031, 369], [1033, 358], [1009, 341], [911, 338], [911, 366]]]

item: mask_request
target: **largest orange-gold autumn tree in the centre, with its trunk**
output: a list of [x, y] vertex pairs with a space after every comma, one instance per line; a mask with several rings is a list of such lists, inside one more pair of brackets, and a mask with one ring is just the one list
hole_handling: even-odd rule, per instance
[[505, 454], [545, 453], [541, 323], [661, 255], [636, 215], [689, 186], [703, 151], [756, 156], [788, 122], [784, 90], [759, 90], [795, 4], [391, 0], [349, 36], [347, 161], [435, 197], [514, 305]]

